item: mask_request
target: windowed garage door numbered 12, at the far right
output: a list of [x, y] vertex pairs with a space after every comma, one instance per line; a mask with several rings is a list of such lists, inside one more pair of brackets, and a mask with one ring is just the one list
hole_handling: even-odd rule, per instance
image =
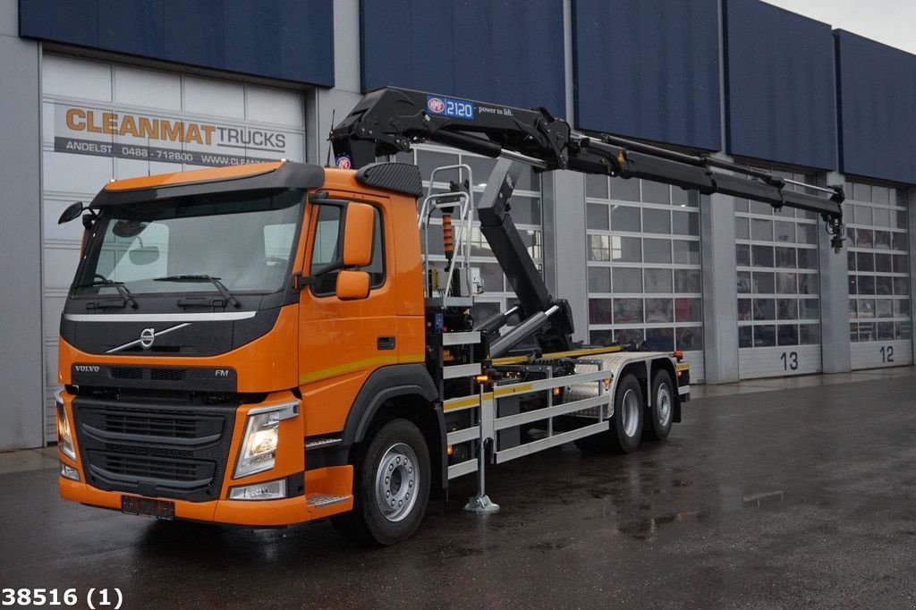
[[852, 367], [911, 365], [906, 192], [863, 182], [845, 190]]

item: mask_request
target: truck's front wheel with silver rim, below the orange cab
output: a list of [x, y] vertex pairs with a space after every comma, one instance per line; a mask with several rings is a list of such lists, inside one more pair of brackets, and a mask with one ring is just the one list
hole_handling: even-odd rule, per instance
[[407, 419], [390, 419], [354, 460], [354, 506], [334, 515], [338, 532], [365, 544], [387, 546], [420, 527], [430, 499], [430, 451]]

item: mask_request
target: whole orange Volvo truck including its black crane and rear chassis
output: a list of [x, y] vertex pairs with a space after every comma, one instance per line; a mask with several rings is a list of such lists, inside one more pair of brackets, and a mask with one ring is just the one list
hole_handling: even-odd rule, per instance
[[[475, 473], [467, 508], [493, 511], [490, 464], [667, 437], [687, 365], [573, 343], [569, 305], [511, 221], [525, 164], [811, 210], [842, 245], [841, 188], [584, 136], [542, 109], [388, 88], [331, 139], [337, 168], [116, 180], [61, 215], [85, 227], [60, 321], [61, 496], [254, 527], [332, 517], [390, 544], [455, 477]], [[499, 158], [479, 201], [467, 166], [437, 169], [424, 196], [416, 166], [377, 161], [424, 141]], [[485, 320], [470, 314], [485, 290], [474, 213], [518, 297]]]

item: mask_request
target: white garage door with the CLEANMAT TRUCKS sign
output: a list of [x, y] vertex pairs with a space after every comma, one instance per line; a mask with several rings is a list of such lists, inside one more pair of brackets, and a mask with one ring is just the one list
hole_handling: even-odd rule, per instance
[[57, 224], [112, 179], [260, 159], [304, 160], [300, 93], [54, 55], [42, 58], [46, 439], [56, 441], [60, 310], [80, 223]]

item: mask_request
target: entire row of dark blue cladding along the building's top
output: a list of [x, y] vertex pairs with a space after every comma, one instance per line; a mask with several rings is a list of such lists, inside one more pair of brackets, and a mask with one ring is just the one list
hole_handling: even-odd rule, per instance
[[[562, 0], [361, 0], [362, 87], [562, 116], [570, 80], [583, 129], [720, 150], [725, 112], [730, 154], [916, 183], [916, 56], [760, 0], [572, 6], [567, 75]], [[26, 38], [333, 86], [333, 0], [19, 0], [19, 12]]]

